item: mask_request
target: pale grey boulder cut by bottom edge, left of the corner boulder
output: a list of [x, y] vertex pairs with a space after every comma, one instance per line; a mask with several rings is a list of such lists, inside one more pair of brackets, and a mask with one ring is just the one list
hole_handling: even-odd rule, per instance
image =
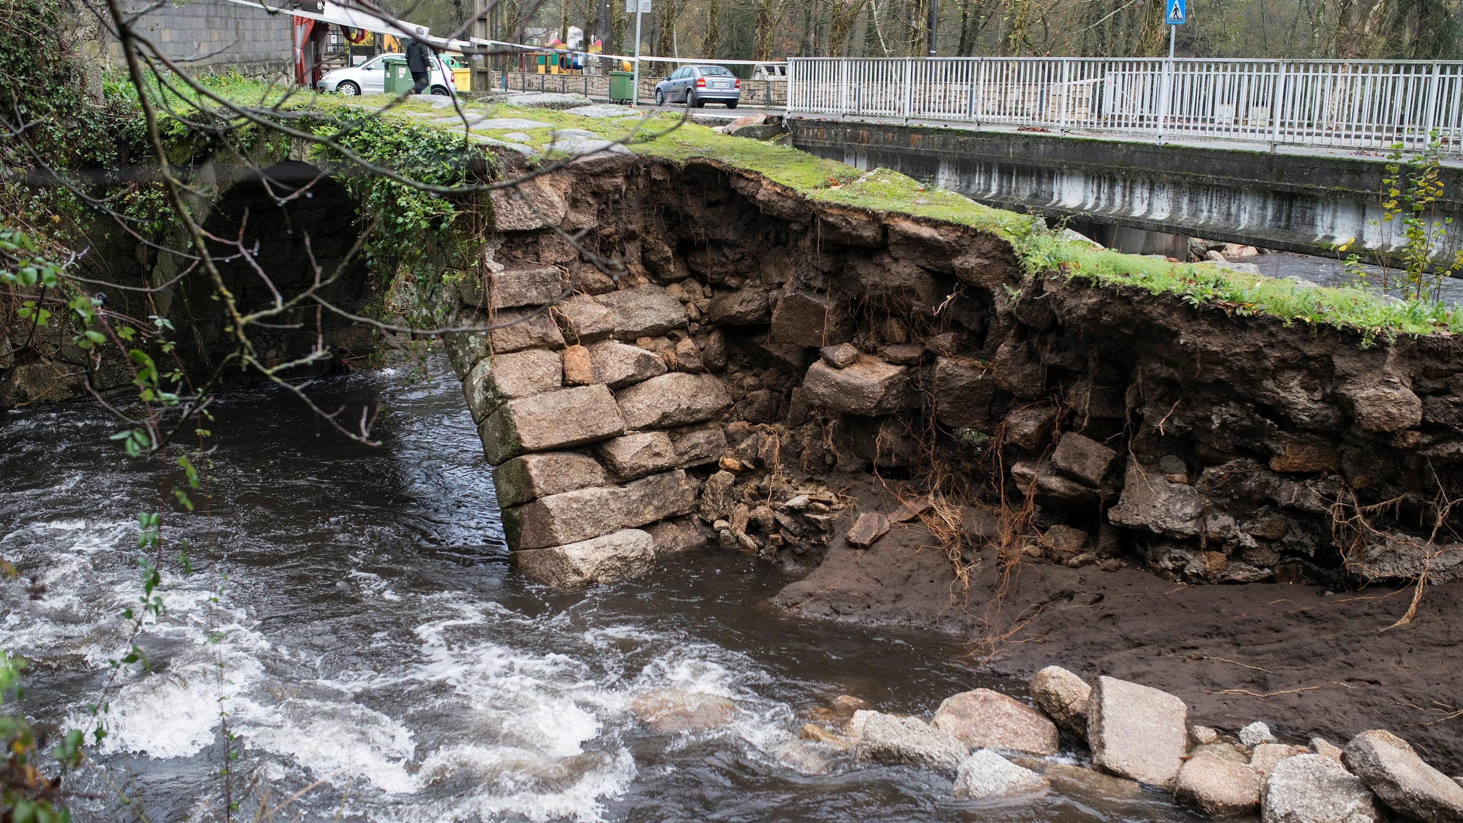
[[1270, 772], [1260, 804], [1264, 823], [1378, 823], [1377, 795], [1324, 754], [1286, 757]]

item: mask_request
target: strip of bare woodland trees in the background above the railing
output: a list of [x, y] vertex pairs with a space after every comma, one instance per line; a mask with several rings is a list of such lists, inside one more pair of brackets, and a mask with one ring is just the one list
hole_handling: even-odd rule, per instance
[[[486, 0], [392, 0], [433, 32]], [[655, 0], [644, 54], [732, 60], [919, 57], [932, 0]], [[1182, 57], [1457, 58], [1463, 0], [1189, 0]], [[1163, 0], [939, 0], [941, 56], [1157, 57]], [[502, 0], [499, 37], [527, 28], [598, 32], [600, 0]], [[606, 51], [633, 51], [633, 15], [610, 3]], [[521, 42], [521, 39], [519, 39]]]

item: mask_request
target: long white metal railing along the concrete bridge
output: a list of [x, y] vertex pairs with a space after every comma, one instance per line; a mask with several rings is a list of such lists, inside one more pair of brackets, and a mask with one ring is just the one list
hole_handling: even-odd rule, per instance
[[1463, 63], [794, 57], [787, 110], [1463, 153]]

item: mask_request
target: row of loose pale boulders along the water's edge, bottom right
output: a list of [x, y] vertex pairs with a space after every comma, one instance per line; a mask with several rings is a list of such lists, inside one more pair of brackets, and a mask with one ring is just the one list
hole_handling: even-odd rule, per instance
[[[837, 732], [809, 724], [803, 737], [853, 750], [857, 760], [945, 773], [955, 797], [970, 800], [1030, 800], [1053, 785], [1135, 797], [1146, 785], [1210, 817], [1258, 811], [1264, 823], [1380, 823], [1396, 813], [1463, 822], [1459, 779], [1385, 731], [1361, 732], [1344, 748], [1321, 738], [1308, 747], [1274, 743], [1263, 722], [1229, 737], [1188, 727], [1173, 694], [1110, 677], [1088, 687], [1059, 667], [1037, 672], [1031, 699], [1036, 708], [976, 689], [948, 697], [930, 724], [862, 708], [850, 718], [835, 706], [816, 716]], [[1058, 751], [1056, 724], [1086, 744], [1090, 769], [1040, 759]]]

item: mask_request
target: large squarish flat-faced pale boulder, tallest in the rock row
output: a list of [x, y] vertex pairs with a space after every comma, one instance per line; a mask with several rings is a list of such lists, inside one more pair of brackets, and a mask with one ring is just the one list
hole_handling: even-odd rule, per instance
[[1099, 677], [1087, 705], [1093, 763], [1134, 781], [1169, 786], [1188, 750], [1188, 706], [1167, 691]]

